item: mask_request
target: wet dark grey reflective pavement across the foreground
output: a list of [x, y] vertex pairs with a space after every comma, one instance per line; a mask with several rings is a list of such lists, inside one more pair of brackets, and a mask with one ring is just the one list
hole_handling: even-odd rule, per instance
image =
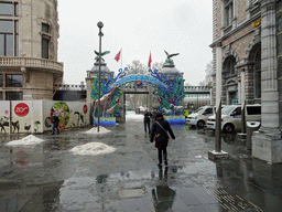
[[[26, 135], [0, 136], [0, 211], [282, 211], [282, 165], [251, 157], [245, 139], [223, 135], [230, 157], [210, 161], [215, 136], [205, 129], [174, 126], [169, 167], [141, 121], [109, 127], [109, 134], [35, 135], [37, 146], [4, 144]], [[90, 141], [117, 148], [112, 153], [77, 156], [68, 150]]]

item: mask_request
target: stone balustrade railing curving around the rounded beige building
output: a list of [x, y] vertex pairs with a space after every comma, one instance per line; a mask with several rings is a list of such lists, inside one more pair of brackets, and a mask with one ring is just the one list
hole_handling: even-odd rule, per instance
[[63, 72], [63, 63], [45, 59], [0, 56], [0, 67], [41, 67]]

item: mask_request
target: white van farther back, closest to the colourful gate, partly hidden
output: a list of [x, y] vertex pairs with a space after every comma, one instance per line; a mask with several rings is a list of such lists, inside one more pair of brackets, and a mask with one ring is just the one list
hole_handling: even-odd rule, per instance
[[204, 127], [207, 118], [214, 113], [215, 106], [213, 105], [199, 107], [196, 112], [187, 116], [186, 123], [191, 126]]

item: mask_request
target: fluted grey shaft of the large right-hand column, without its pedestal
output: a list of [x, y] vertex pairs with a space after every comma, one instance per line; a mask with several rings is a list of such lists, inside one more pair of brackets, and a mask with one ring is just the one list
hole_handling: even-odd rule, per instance
[[274, 0], [262, 1], [261, 15], [261, 126], [273, 132], [279, 127]]

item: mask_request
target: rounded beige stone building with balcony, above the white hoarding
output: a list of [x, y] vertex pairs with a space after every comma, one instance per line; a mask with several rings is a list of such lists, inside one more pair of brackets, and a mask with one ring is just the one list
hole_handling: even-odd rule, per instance
[[57, 62], [57, 0], [0, 1], [0, 99], [52, 99]]

